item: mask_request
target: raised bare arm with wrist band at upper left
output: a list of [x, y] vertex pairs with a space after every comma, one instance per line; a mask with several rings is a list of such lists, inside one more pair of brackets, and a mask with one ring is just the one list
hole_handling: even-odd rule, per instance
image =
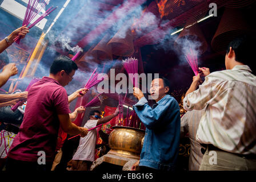
[[11, 34], [7, 36], [7, 39], [9, 40], [10, 44], [8, 44], [5, 39], [1, 40], [0, 53], [5, 51], [7, 47], [11, 46], [11, 44], [14, 42], [13, 39], [16, 38], [18, 35], [21, 35], [21, 38], [23, 39], [28, 32], [29, 32], [29, 28], [27, 28], [26, 25], [19, 27], [13, 32], [11, 32]]

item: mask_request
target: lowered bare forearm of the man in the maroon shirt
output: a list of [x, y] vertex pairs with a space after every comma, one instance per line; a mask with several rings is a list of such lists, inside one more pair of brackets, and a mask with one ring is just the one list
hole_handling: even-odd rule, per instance
[[88, 129], [84, 127], [79, 127], [70, 121], [69, 114], [58, 114], [59, 122], [61, 123], [61, 128], [64, 132], [70, 135], [81, 135], [85, 137], [88, 133]]

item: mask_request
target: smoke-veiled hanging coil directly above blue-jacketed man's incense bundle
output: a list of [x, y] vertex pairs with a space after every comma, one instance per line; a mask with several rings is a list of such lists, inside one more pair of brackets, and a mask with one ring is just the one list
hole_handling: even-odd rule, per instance
[[124, 28], [126, 26], [120, 28], [107, 45], [111, 47], [114, 55], [126, 57], [133, 55], [134, 46], [130, 29], [125, 31]]

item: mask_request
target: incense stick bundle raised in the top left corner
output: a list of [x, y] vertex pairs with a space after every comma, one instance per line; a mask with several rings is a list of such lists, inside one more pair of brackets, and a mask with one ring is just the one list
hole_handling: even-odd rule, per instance
[[[29, 0], [29, 3], [27, 3], [26, 13], [23, 19], [22, 26], [29, 25], [32, 20], [34, 20], [35, 16], [49, 3], [50, 0]], [[33, 23], [30, 24], [28, 28], [32, 28], [40, 22], [45, 16], [49, 15], [51, 12], [53, 12], [57, 7], [50, 7], [48, 10], [45, 11], [44, 14], [39, 16], [38, 19], [36, 19]], [[21, 36], [17, 36], [14, 41], [19, 44], [21, 40]]]

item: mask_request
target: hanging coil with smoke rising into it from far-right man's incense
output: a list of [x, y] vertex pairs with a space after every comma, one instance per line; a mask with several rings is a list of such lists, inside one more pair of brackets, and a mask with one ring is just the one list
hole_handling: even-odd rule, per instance
[[[187, 28], [186, 28], [187, 27]], [[202, 31], [198, 27], [197, 23], [193, 24], [193, 26], [186, 26], [181, 34], [179, 34], [178, 38], [174, 42], [174, 48], [177, 50], [181, 50], [181, 43], [183, 39], [187, 39], [194, 44], [199, 43], [197, 46], [197, 52], [199, 55], [202, 55], [207, 50], [207, 42], [205, 36], [203, 36]]]

